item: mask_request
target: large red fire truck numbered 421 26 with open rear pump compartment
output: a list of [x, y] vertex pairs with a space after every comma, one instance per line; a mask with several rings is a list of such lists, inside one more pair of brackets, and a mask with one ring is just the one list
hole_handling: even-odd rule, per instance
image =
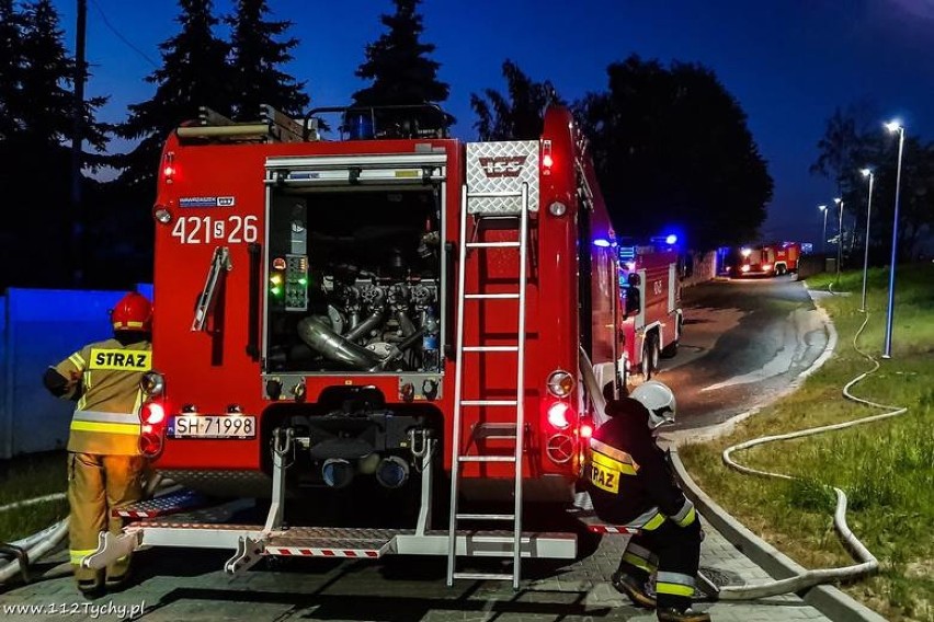
[[[140, 545], [236, 550], [231, 574], [263, 555], [446, 555], [448, 585], [517, 586], [522, 557], [576, 556], [573, 532], [532, 533], [523, 507], [572, 498], [591, 415], [622, 380], [618, 256], [586, 142], [562, 107], [539, 140], [468, 143], [431, 110], [203, 111], [172, 133], [143, 449], [190, 489], [271, 505], [264, 525], [227, 526], [141, 504], [87, 566]], [[319, 136], [326, 114], [341, 139]], [[638, 318], [653, 316], [654, 273], [636, 274]], [[350, 498], [411, 523], [341, 514]], [[286, 499], [334, 510], [329, 527], [286, 529]], [[511, 572], [463, 569], [490, 555]]]

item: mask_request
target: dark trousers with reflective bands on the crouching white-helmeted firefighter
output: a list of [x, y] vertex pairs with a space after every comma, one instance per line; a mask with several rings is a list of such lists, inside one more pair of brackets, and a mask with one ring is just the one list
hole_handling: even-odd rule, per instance
[[702, 540], [699, 518], [686, 527], [665, 519], [656, 529], [629, 539], [619, 571], [640, 584], [654, 574], [658, 607], [683, 611], [691, 607], [694, 595]]

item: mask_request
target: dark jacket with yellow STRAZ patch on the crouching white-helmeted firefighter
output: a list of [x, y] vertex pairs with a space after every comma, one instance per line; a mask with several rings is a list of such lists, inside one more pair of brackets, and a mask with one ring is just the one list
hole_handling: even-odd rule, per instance
[[695, 519], [664, 452], [649, 430], [649, 412], [636, 400], [610, 402], [611, 419], [590, 440], [585, 480], [597, 516], [610, 523], [652, 530], [665, 518], [685, 527]]

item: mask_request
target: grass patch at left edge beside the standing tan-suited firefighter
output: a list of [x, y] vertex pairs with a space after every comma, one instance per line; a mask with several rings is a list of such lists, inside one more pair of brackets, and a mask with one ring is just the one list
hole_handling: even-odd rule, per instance
[[[50, 451], [0, 461], [0, 506], [64, 493], [68, 486], [66, 452]], [[0, 541], [12, 542], [68, 516], [66, 499], [0, 512]]]

